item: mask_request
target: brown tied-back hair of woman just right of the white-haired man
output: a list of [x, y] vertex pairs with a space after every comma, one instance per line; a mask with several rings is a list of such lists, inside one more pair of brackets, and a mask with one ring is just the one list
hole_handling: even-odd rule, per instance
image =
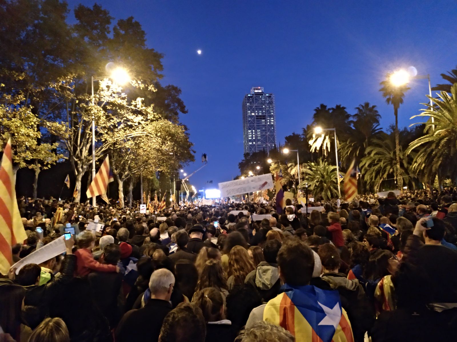
[[192, 304], [202, 309], [206, 322], [223, 320], [224, 300], [222, 294], [214, 287], [197, 291], [192, 298]]

